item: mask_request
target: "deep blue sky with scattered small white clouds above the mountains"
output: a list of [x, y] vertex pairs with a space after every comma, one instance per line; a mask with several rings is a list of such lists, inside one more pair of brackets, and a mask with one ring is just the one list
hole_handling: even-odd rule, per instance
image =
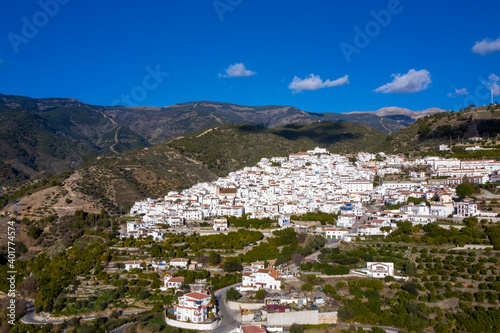
[[498, 1], [11, 1], [0, 93], [458, 110], [489, 89], [500, 99], [498, 13]]

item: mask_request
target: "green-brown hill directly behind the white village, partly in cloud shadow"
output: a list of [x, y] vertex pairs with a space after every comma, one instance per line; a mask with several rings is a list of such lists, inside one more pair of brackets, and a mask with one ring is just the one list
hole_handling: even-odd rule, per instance
[[199, 182], [213, 181], [263, 157], [326, 147], [332, 152], [378, 151], [386, 134], [345, 122], [290, 124], [268, 128], [224, 125], [160, 145], [103, 157], [81, 170], [78, 191], [118, 211], [145, 197], [160, 197]]

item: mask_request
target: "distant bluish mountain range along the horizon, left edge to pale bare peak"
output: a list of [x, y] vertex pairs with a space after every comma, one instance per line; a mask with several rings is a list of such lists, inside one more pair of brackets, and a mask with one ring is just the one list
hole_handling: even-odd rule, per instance
[[0, 94], [0, 180], [8, 184], [44, 173], [57, 174], [97, 156], [149, 147], [226, 124], [274, 128], [292, 123], [351, 122], [391, 134], [420, 115], [442, 111], [384, 108], [311, 113], [291, 106], [208, 101], [165, 107], [98, 106], [73, 98]]

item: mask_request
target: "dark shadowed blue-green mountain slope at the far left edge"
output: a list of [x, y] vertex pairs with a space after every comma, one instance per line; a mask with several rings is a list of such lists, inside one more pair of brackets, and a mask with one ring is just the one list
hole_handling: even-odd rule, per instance
[[98, 155], [149, 145], [98, 107], [74, 99], [0, 95], [0, 181], [57, 174]]

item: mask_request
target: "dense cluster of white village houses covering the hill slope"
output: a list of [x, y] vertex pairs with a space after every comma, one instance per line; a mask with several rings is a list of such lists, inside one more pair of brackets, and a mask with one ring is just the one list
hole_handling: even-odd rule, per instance
[[[383, 234], [380, 228], [396, 221], [426, 224], [446, 217], [492, 218], [496, 214], [479, 211], [473, 200], [457, 200], [455, 188], [463, 182], [499, 182], [499, 173], [500, 162], [494, 160], [435, 156], [410, 160], [385, 153], [358, 153], [348, 158], [315, 148], [288, 157], [263, 158], [256, 166], [215, 182], [136, 202], [130, 214], [143, 218], [128, 224], [127, 236], [151, 235], [158, 239], [163, 237], [159, 226], [179, 228], [204, 220], [210, 220], [215, 231], [227, 230], [227, 220], [220, 217], [244, 214], [248, 218], [276, 219], [282, 228], [291, 225], [292, 215], [308, 212], [340, 214], [336, 226], [349, 229], [357, 220], [370, 216], [370, 223], [358, 227], [360, 234], [370, 235]], [[399, 178], [379, 183], [379, 179], [391, 175]], [[409, 198], [424, 199], [430, 205], [410, 203], [396, 210], [373, 209], [386, 203], [407, 203]]]

